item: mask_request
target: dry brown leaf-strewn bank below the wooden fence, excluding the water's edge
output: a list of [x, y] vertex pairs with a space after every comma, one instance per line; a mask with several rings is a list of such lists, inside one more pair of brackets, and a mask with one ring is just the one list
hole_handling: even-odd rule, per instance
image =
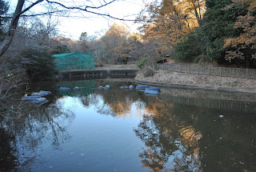
[[210, 88], [232, 88], [236, 90], [256, 91], [256, 80], [246, 78], [218, 77], [201, 74], [183, 74], [158, 70], [153, 77], [145, 78], [142, 72], [138, 72], [136, 78], [143, 82], [159, 82], [188, 86], [202, 86]]

